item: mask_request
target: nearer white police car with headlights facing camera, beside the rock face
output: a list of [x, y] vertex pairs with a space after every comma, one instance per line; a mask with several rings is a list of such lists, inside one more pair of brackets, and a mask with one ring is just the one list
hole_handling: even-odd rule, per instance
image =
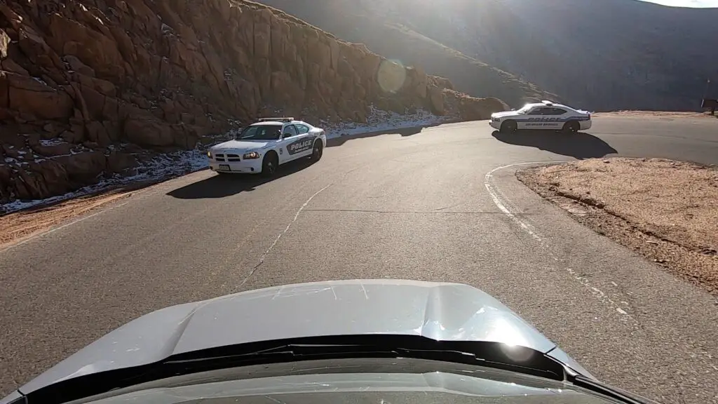
[[319, 161], [326, 146], [323, 129], [294, 118], [262, 118], [242, 129], [236, 139], [215, 144], [207, 157], [210, 170], [220, 174], [271, 177], [285, 162], [302, 157]]

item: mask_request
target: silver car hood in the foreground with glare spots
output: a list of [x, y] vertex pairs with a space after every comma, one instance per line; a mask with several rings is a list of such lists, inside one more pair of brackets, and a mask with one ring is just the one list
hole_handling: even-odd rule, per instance
[[590, 377], [553, 342], [482, 290], [457, 283], [341, 280], [250, 290], [153, 311], [85, 346], [19, 391], [28, 394], [72, 377], [150, 364], [199, 349], [342, 334], [505, 342], [550, 351]]

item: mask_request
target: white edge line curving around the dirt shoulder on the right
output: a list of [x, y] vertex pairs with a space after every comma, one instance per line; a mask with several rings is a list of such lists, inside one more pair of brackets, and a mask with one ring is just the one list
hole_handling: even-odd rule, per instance
[[[517, 165], [534, 165], [534, 164], [549, 164], [549, 163], [561, 163], [566, 161], [536, 161], [536, 162], [518, 162], [516, 164], [509, 164], [509, 165], [502, 165], [500, 167], [495, 167], [493, 170], [490, 170], [486, 175], [484, 176], [484, 186], [486, 187], [486, 190], [489, 193], [489, 196], [491, 197], [491, 200], [496, 205], [496, 207], [499, 208], [500, 211], [503, 212], [511, 221], [513, 221], [515, 224], [517, 224], [523, 231], [526, 231], [528, 235], [531, 236], [536, 242], [540, 243], [542, 247], [546, 249], [546, 251], [549, 253], [549, 256], [553, 258], [555, 262], [564, 262], [565, 260], [561, 260], [559, 257], [556, 256], [553, 252], [551, 252], [551, 248], [549, 248], [549, 244], [547, 244], [544, 241], [544, 238], [541, 237], [541, 234], [536, 231], [536, 229], [528, 223], [528, 221], [525, 221], [510, 211], [510, 209], [506, 206], [507, 203], [501, 201], [501, 198], [499, 196], [500, 191], [496, 187], [495, 184], [492, 183], [493, 179], [493, 173], [495, 173], [498, 170], [503, 170], [505, 168], [509, 167], [516, 167]], [[602, 290], [596, 288], [595, 286], [591, 285], [589, 281], [586, 279], [586, 277], [582, 277], [581, 275], [577, 274], [576, 271], [572, 270], [570, 267], [566, 267], [565, 270], [569, 272], [569, 275], [571, 275], [574, 280], [577, 280], [581, 285], [583, 285], [589, 292], [594, 295], [598, 300], [602, 301], [603, 303], [606, 303], [607, 305], [611, 306], [612, 309], [614, 309], [617, 313], [619, 313], [624, 321], [630, 320], [633, 323], [636, 323], [635, 319], [630, 316], [623, 308], [621, 308], [618, 304], [615, 303], [611, 298], [608, 297], [605, 293], [603, 293]]]

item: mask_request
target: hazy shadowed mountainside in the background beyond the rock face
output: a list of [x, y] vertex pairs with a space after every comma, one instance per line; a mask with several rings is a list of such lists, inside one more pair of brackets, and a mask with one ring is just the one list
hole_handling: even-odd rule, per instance
[[[439, 63], [428, 49], [441, 44], [460, 52], [457, 59], [474, 58], [596, 111], [695, 110], [707, 78], [718, 78], [718, 49], [709, 45], [718, 37], [718, 9], [636, 0], [264, 3], [388, 58], [422, 64], [473, 95], [482, 94], [483, 76], [472, 81], [459, 61]], [[407, 42], [396, 27], [427, 40]]]

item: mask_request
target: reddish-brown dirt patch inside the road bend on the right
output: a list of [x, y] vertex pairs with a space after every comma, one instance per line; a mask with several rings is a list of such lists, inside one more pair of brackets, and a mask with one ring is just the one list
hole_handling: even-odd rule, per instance
[[577, 221], [718, 295], [718, 169], [592, 159], [516, 174]]

